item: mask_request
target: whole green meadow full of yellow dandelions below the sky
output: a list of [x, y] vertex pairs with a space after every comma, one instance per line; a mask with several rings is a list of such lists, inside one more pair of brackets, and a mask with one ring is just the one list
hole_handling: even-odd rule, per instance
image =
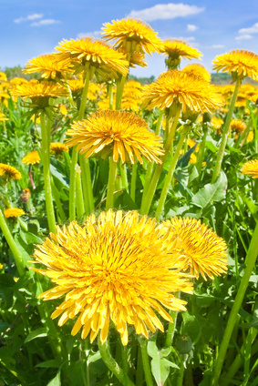
[[103, 31], [0, 72], [0, 386], [258, 385], [258, 56]]

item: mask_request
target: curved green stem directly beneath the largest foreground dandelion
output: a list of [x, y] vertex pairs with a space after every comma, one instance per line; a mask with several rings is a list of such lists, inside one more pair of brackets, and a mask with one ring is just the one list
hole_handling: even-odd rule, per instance
[[135, 386], [134, 383], [126, 376], [124, 371], [122, 371], [122, 369], [119, 367], [119, 364], [112, 357], [108, 341], [106, 340], [103, 344], [101, 343], [100, 334], [98, 334], [98, 350], [108, 369], [118, 378], [122, 385]]

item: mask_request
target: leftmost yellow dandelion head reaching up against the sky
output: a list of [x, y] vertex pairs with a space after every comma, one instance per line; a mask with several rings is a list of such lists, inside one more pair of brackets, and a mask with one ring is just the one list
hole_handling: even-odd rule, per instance
[[71, 66], [67, 62], [59, 60], [57, 54], [46, 54], [29, 60], [23, 72], [25, 74], [39, 72], [41, 77], [46, 79], [66, 78], [67, 73], [71, 72]]

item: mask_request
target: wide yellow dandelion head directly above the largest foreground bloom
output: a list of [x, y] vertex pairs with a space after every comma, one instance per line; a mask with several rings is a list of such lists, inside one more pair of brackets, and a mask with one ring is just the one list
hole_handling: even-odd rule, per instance
[[117, 162], [119, 157], [135, 163], [135, 158], [142, 164], [145, 157], [149, 162], [161, 163], [158, 158], [163, 154], [160, 137], [148, 129], [145, 120], [133, 113], [124, 111], [99, 111], [88, 119], [78, 121], [67, 130], [69, 147], [76, 146], [85, 157], [101, 152], [101, 157], [113, 156]]

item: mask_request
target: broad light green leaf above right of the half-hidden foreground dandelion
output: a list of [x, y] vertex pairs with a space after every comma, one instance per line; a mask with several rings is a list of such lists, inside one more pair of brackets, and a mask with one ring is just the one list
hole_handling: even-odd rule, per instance
[[224, 172], [213, 184], [207, 184], [191, 198], [191, 202], [197, 207], [205, 208], [214, 201], [222, 201], [226, 195], [227, 178]]

